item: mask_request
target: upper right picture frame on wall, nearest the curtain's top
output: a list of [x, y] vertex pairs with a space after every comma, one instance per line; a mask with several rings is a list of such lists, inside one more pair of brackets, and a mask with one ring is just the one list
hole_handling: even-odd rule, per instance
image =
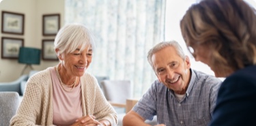
[[44, 36], [56, 35], [60, 28], [60, 14], [44, 14], [42, 33]]

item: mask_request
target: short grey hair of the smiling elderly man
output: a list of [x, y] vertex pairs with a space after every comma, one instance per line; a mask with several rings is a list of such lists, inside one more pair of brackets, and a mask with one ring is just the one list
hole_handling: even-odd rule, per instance
[[176, 41], [172, 40], [169, 42], [160, 42], [158, 44], [156, 44], [156, 46], [154, 46], [152, 49], [150, 49], [150, 51], [147, 52], [147, 61], [150, 63], [152, 69], [154, 69], [154, 65], [152, 62], [152, 56], [153, 54], [155, 54], [156, 52], [162, 50], [163, 48], [172, 46], [175, 48], [177, 54], [182, 58], [182, 59], [186, 59], [186, 56], [182, 50], [182, 47], [180, 46], [180, 44], [178, 44]]

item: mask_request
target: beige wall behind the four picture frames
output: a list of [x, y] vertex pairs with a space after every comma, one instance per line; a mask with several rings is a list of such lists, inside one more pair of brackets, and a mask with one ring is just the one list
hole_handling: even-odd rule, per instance
[[[24, 46], [42, 48], [43, 39], [54, 39], [55, 36], [46, 37], [42, 35], [42, 15], [61, 15], [61, 26], [64, 25], [64, 0], [3, 0], [0, 3], [0, 11], [17, 12], [25, 14], [25, 34], [12, 35], [1, 33], [0, 37], [15, 37], [24, 39]], [[1, 17], [0, 17], [1, 18]], [[0, 20], [1, 24], [1, 20]], [[0, 31], [1, 32], [1, 31]], [[1, 50], [1, 44], [0, 44]], [[1, 51], [0, 51], [1, 52]], [[57, 65], [58, 61], [44, 61], [41, 58], [40, 65], [32, 65], [35, 70], [46, 69], [46, 67]], [[25, 64], [18, 63], [17, 59], [0, 59], [0, 82], [16, 80]], [[29, 72], [25, 70], [25, 74]]]

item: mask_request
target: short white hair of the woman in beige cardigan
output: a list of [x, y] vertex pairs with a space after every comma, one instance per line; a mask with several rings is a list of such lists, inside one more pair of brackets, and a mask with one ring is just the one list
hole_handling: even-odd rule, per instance
[[87, 45], [95, 50], [94, 36], [87, 27], [76, 23], [63, 26], [54, 42], [54, 48], [59, 49], [59, 54], [74, 52], [79, 46], [80, 50], [84, 50]]

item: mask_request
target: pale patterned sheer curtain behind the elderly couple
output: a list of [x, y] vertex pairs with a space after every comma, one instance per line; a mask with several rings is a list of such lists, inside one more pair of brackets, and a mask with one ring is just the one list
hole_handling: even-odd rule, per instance
[[141, 97], [156, 80], [147, 52], [165, 37], [166, 0], [66, 0], [65, 22], [86, 25], [96, 38], [88, 72], [131, 80]]

